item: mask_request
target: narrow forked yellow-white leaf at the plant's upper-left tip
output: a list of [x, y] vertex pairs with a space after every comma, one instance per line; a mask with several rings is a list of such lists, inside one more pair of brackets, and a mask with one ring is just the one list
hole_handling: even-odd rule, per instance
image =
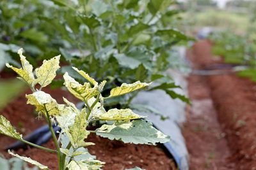
[[17, 67], [13, 67], [8, 63], [6, 63], [6, 67], [13, 69], [13, 71], [19, 74], [20, 78], [22, 78], [29, 85], [31, 85], [31, 87], [34, 87], [36, 81], [33, 74], [33, 66], [29, 64], [28, 60], [26, 60], [26, 57], [22, 54], [22, 50], [23, 49], [20, 48], [20, 50], [18, 51], [22, 67], [18, 69]]

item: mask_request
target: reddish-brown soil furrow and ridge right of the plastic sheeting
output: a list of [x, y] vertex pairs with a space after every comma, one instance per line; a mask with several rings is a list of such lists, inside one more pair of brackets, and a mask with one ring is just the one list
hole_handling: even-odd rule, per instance
[[[188, 50], [194, 68], [204, 69], [222, 62], [212, 56], [211, 46], [209, 41], [200, 41]], [[191, 169], [256, 169], [256, 83], [235, 74], [193, 75], [189, 76], [189, 94], [192, 101], [204, 98], [213, 101], [213, 106], [202, 103], [192, 106], [188, 112], [184, 136], [191, 155]], [[196, 115], [198, 110], [204, 110], [202, 116]], [[195, 127], [199, 128], [193, 132]], [[207, 161], [202, 155], [208, 155], [209, 150], [220, 155], [207, 160], [211, 163], [205, 168]]]

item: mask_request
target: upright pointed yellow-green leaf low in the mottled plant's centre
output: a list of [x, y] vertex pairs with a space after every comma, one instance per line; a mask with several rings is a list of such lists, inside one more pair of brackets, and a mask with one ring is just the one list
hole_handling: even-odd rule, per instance
[[86, 126], [86, 113], [82, 110], [81, 113], [76, 116], [74, 124], [68, 128], [68, 131], [65, 131], [74, 148], [88, 145], [88, 143], [84, 142], [84, 139], [90, 134], [90, 132], [86, 131]]

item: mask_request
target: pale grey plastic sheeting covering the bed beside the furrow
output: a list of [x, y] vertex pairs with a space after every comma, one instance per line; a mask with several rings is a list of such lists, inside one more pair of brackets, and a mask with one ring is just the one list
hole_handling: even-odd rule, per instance
[[[180, 52], [184, 57], [184, 50], [181, 49]], [[186, 95], [187, 82], [184, 74], [173, 71], [172, 69], [168, 70], [168, 74], [172, 76], [177, 85], [182, 87], [182, 89], [175, 89], [175, 92]], [[179, 169], [189, 169], [188, 150], [182, 132], [180, 131], [180, 125], [186, 121], [186, 103], [179, 99], [172, 99], [163, 90], [154, 90], [150, 92], [140, 92], [138, 96], [133, 99], [132, 104], [149, 105], [165, 117], [170, 117], [166, 120], [161, 120], [159, 115], [140, 112], [141, 115], [147, 116], [147, 119], [150, 120], [157, 129], [171, 137], [171, 141], [164, 143], [164, 146], [173, 155]]]

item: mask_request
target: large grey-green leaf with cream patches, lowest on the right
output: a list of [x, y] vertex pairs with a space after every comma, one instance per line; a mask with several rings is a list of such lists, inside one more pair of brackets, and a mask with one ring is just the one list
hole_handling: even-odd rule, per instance
[[132, 120], [132, 122], [102, 125], [96, 129], [96, 134], [111, 140], [121, 140], [124, 143], [156, 145], [166, 143], [170, 137], [152, 126], [147, 120]]

